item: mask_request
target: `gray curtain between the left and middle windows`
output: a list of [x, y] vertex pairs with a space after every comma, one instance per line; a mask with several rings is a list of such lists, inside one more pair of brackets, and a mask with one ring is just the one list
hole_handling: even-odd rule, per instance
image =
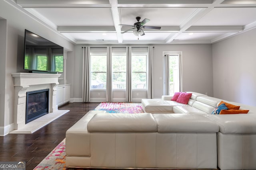
[[112, 47], [107, 46], [106, 102], [112, 102]]

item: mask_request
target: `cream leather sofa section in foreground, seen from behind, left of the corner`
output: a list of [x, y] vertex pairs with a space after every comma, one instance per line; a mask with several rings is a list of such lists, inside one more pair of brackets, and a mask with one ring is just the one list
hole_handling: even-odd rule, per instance
[[66, 166], [216, 169], [218, 128], [203, 115], [89, 111], [66, 132]]

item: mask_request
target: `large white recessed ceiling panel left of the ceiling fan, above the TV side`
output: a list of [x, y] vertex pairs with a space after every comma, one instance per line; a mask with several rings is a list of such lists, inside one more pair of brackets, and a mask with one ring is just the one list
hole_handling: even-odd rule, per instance
[[35, 8], [38, 13], [58, 26], [112, 26], [109, 8]]

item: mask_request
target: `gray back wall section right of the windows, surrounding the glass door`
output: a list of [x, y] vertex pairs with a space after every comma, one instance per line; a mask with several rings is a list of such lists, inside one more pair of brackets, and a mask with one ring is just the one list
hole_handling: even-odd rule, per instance
[[183, 91], [213, 96], [212, 45], [154, 45], [154, 98], [163, 95], [163, 51], [182, 51]]

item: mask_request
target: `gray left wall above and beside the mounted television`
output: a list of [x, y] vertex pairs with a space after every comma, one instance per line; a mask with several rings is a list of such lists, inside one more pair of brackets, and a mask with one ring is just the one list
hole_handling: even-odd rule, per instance
[[[10, 1], [10, 3], [16, 6], [14, 2]], [[0, 1], [0, 18], [6, 20], [6, 24], [2, 20], [0, 21], [1, 69], [2, 64], [5, 64], [4, 73], [2, 71], [0, 73], [2, 80], [0, 82], [0, 90], [5, 88], [4, 94], [0, 91], [0, 100], [2, 101], [4, 98], [4, 106], [0, 105], [0, 135], [2, 135], [4, 128], [11, 129], [10, 126], [14, 122], [14, 86], [11, 74], [22, 70], [25, 29], [61, 45], [66, 51], [73, 51], [74, 48], [72, 43], [68, 42], [58, 33], [28, 16], [27, 12], [22, 12], [24, 10], [17, 9], [21, 8], [20, 6], [17, 6], [17, 8], [14, 6], [6, 1]], [[6, 40], [4, 40], [2, 35], [6, 36]]]

